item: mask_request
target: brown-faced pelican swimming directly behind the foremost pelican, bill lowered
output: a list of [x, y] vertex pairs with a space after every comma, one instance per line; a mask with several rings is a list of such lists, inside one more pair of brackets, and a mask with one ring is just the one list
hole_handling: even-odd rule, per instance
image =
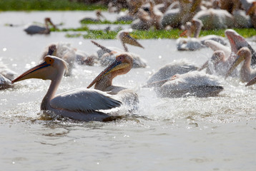
[[95, 84], [95, 89], [117, 95], [117, 100], [128, 105], [136, 105], [139, 101], [137, 93], [134, 93], [131, 89], [112, 85], [112, 80], [115, 77], [126, 74], [131, 70], [132, 61], [132, 56], [129, 53], [117, 55], [115, 61], [105, 68], [102, 73], [99, 73], [87, 88], [91, 88]]

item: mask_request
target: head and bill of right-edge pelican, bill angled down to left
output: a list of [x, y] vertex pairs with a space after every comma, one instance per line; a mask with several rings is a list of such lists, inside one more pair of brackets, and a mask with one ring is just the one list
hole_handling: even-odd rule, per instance
[[251, 56], [252, 56], [252, 53], [249, 48], [247, 47], [240, 48], [240, 50], [237, 52], [237, 59], [230, 66], [230, 69], [227, 71], [225, 78], [227, 78], [227, 76], [230, 76], [232, 71], [234, 71], [235, 68], [244, 60], [249, 61], [248, 67], [250, 67]]

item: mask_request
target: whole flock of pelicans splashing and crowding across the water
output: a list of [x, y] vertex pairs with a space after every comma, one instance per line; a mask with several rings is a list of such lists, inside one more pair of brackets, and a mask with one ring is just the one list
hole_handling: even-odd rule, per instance
[[[149, 93], [154, 90], [157, 93], [157, 98], [187, 98], [189, 96], [208, 98], [218, 96], [225, 90], [226, 87], [223, 86], [223, 83], [229, 82], [229, 79], [225, 79], [228, 76], [247, 83], [246, 86], [256, 83], [255, 45], [233, 29], [256, 28], [255, 1], [241, 0], [227, 3], [227, 1], [205, 0], [131, 0], [126, 1], [126, 4], [120, 4], [119, 1], [115, 1], [115, 3], [113, 6], [113, 2], [109, 2], [109, 12], [119, 13], [118, 21], [132, 21], [130, 25], [127, 25], [129, 29], [118, 30], [117, 39], [120, 41], [122, 49], [105, 47], [92, 40], [99, 50], [88, 55], [85, 51], [74, 48], [71, 43], [56, 40], [55, 43], [45, 45], [39, 58], [39, 65], [25, 71], [15, 79], [16, 72], [0, 63], [0, 90], [2, 92], [7, 91], [6, 89], [18, 91], [19, 88], [16, 88], [15, 83], [26, 79], [49, 80], [51, 83], [41, 101], [41, 110], [49, 115], [58, 115], [74, 120], [107, 121], [116, 116], [114, 110], [119, 110], [125, 105], [132, 106], [133, 109], [137, 108], [139, 106], [139, 90], [142, 89], [149, 90]], [[228, 4], [232, 4], [232, 6]], [[123, 6], [127, 7], [127, 11], [121, 10]], [[90, 17], [84, 21], [107, 20], [99, 10], [96, 11], [96, 16], [96, 19]], [[26, 26], [24, 31], [31, 35], [49, 34], [50, 25], [56, 28], [50, 18], [45, 18], [44, 22], [43, 26], [35, 24]], [[164, 29], [171, 32], [173, 28], [183, 31], [177, 38], [177, 48], [175, 48], [177, 54], [180, 54], [180, 60], [166, 61], [164, 66], [158, 71], [154, 71], [155, 66], [148, 65], [144, 59], [147, 57], [137, 54], [139, 48], [143, 48], [143, 51], [151, 50], [147, 49], [143, 43], [139, 43], [130, 32]], [[217, 30], [219, 28], [225, 28], [225, 37], [200, 36], [201, 30]], [[138, 48], [131, 52], [128, 50], [130, 45]], [[194, 63], [182, 58], [184, 52], [180, 51], [192, 51], [189, 54], [195, 56], [193, 51], [202, 51], [202, 47], [212, 49], [207, 61]], [[161, 52], [154, 53], [160, 54]], [[169, 53], [169, 56], [170, 58], [174, 57], [172, 53]], [[81, 80], [81, 82], [87, 81], [86, 85], [88, 83], [89, 86], [56, 95], [63, 76], [69, 76], [64, 79], [71, 83], [78, 78], [75, 75], [79, 73], [76, 71], [77, 64], [81, 65], [79, 67], [86, 71], [86, 74], [91, 74], [89, 76], [97, 75], [93, 68], [98, 67], [100, 71], [102, 71], [100, 67], [106, 68], [99, 75], [95, 75], [96, 78], [89, 80], [89, 83], [88, 79]], [[138, 85], [137, 88], [127, 88], [127, 85], [114, 83], [121, 77], [126, 79], [127, 76], [131, 76], [129, 81], [135, 81], [132, 80], [134, 78], [132, 74], [138, 73], [136, 70], [141, 71], [140, 74], [145, 79], [145, 83]], [[143, 73], [152, 74], [146, 77]], [[83, 77], [86, 77], [85, 74]], [[93, 86], [94, 88], [92, 88]], [[64, 84], [62, 87], [68, 89]]]

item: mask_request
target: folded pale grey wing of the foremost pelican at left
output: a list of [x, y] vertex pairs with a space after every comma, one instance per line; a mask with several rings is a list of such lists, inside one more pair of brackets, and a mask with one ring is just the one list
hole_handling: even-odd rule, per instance
[[107, 110], [119, 107], [122, 103], [100, 90], [79, 88], [56, 95], [51, 107], [88, 113], [93, 110]]

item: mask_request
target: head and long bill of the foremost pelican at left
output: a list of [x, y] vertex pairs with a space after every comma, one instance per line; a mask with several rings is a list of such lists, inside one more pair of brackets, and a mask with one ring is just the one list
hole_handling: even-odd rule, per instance
[[21, 76], [11, 81], [11, 83], [23, 81], [29, 78], [39, 78], [52, 81], [58, 74], [62, 74], [63, 76], [65, 70], [67, 70], [67, 63], [61, 58], [57, 58], [56, 56], [46, 56], [43, 63], [22, 73]]

